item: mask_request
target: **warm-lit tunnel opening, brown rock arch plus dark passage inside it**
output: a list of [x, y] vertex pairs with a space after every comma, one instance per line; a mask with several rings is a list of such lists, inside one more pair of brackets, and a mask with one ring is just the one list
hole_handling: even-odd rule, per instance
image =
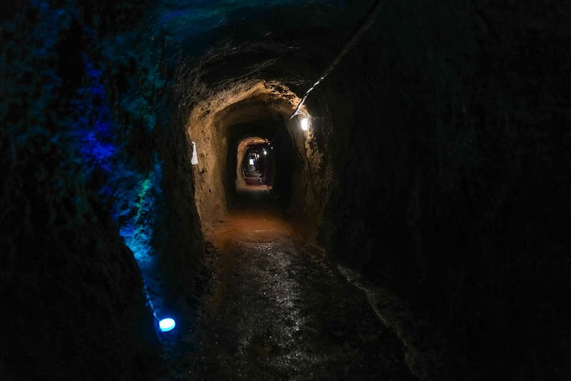
[[314, 149], [311, 131], [290, 119], [297, 102], [287, 87], [256, 81], [219, 91], [193, 109], [195, 203], [206, 232], [245, 192], [267, 192], [283, 211], [303, 214]]

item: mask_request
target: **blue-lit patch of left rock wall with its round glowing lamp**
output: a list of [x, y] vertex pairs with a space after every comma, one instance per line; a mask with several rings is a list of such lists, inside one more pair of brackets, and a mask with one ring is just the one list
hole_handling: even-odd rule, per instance
[[[103, 179], [103, 184], [98, 194], [111, 205], [111, 217], [118, 224], [119, 234], [126, 246], [133, 252], [143, 277], [147, 305], [157, 319], [163, 306], [165, 290], [161, 281], [156, 279], [155, 257], [158, 252], [153, 249], [151, 241], [156, 204], [162, 194], [160, 184], [163, 164], [155, 152], [153, 167], [145, 173], [126, 157], [125, 145], [120, 137], [130, 127], [113, 122], [103, 72], [96, 69], [86, 57], [84, 65], [89, 81], [78, 89], [76, 98], [71, 101], [76, 112], [74, 136], [84, 164], [84, 173], [89, 177], [98, 170], [98, 174], [102, 175], [100, 178]], [[127, 111], [133, 115], [133, 119], [149, 119], [150, 130], [154, 116], [152, 113], [142, 115], [144, 113], [140, 112], [141, 108], [143, 107]], [[160, 323], [163, 332], [172, 330], [174, 325], [174, 320]]]

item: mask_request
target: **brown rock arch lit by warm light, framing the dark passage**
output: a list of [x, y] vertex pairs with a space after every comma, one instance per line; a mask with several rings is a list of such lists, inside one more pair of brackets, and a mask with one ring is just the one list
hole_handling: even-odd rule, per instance
[[[187, 124], [189, 139], [196, 142], [198, 165], [195, 174], [195, 202], [203, 227], [226, 215], [227, 193], [234, 187], [226, 179], [228, 155], [235, 152], [230, 147], [230, 129], [238, 124], [256, 121], [273, 121], [282, 124], [285, 133], [298, 147], [305, 167], [302, 178], [309, 169], [315, 149], [310, 146], [310, 132], [300, 131], [297, 121], [289, 120], [299, 102], [293, 91], [278, 81], [243, 81], [233, 86], [219, 85], [208, 91], [210, 97], [199, 102], [190, 112]], [[310, 117], [307, 108], [303, 111]], [[261, 124], [261, 132], [263, 131]]]

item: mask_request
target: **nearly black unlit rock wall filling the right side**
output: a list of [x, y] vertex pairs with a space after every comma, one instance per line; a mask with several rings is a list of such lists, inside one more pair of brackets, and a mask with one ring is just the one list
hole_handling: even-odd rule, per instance
[[388, 1], [332, 79], [351, 101], [322, 237], [414, 301], [464, 380], [570, 375], [568, 16]]

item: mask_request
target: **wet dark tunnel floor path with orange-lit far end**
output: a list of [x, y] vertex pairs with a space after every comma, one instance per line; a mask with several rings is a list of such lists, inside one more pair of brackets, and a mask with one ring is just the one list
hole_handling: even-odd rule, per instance
[[216, 229], [192, 380], [413, 380], [366, 297], [258, 192]]

